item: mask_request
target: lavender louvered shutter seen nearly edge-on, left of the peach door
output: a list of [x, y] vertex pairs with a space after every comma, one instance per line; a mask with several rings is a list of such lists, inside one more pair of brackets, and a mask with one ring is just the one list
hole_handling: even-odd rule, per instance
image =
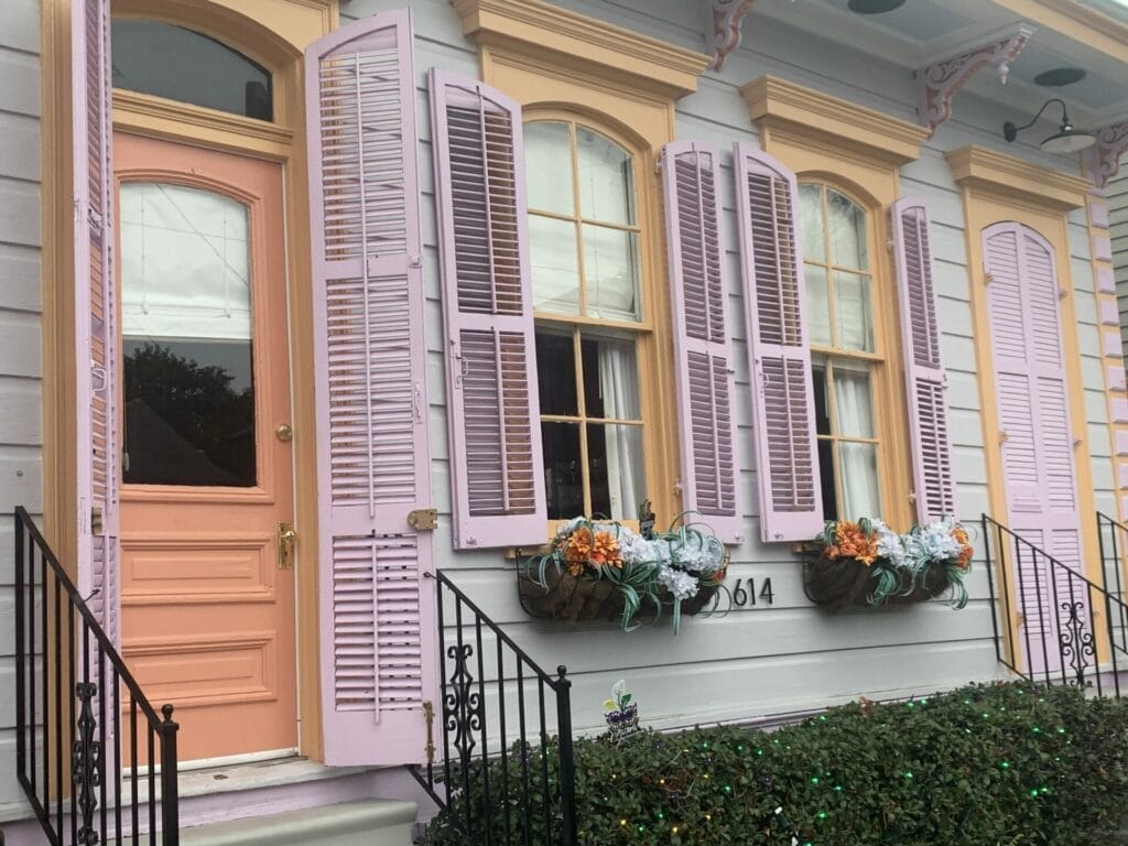
[[71, 10], [74, 132], [74, 350], [79, 591], [120, 642], [121, 478], [115, 342], [109, 0]]

